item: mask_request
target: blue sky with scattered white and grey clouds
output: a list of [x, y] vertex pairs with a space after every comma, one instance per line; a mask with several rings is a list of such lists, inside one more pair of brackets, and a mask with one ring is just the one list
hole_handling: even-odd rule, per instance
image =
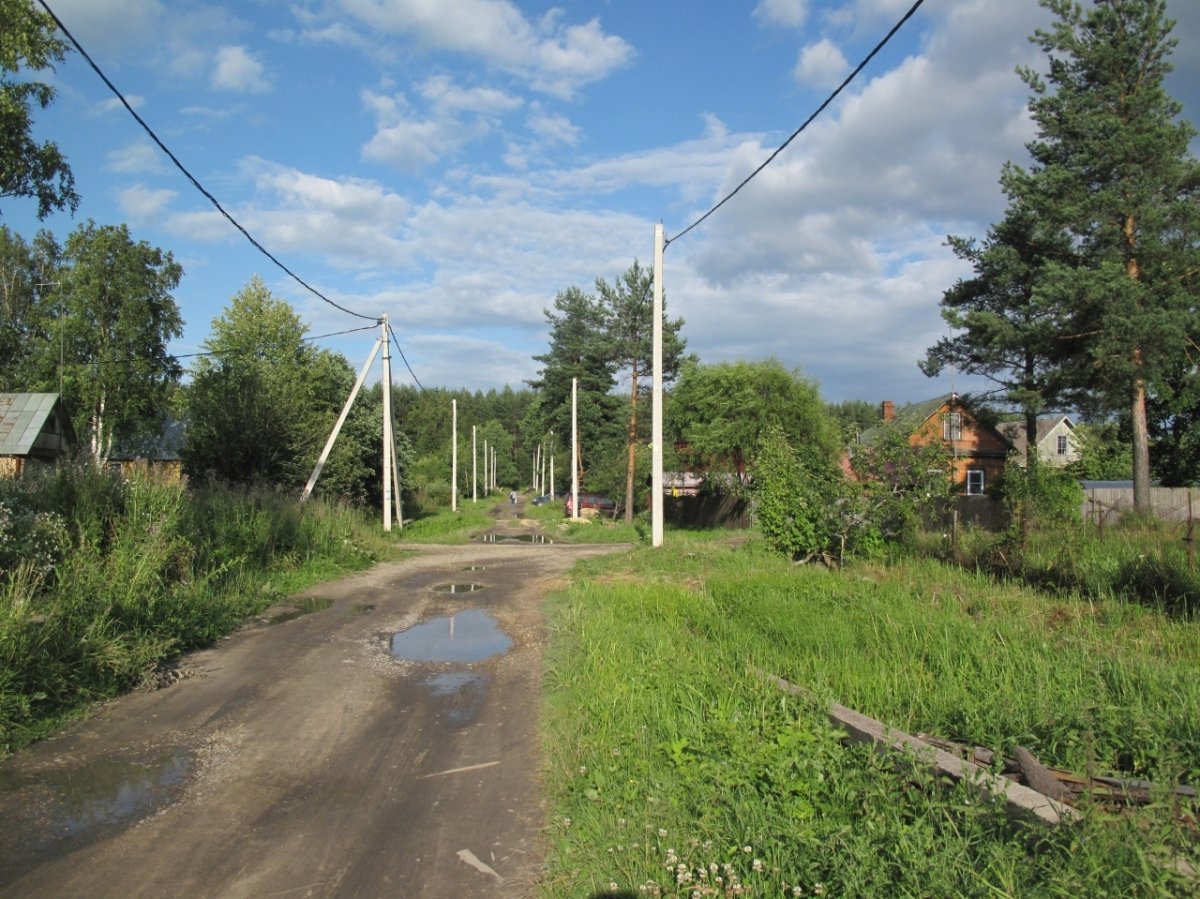
[[[386, 313], [396, 383], [521, 389], [546, 311], [668, 241], [667, 314], [701, 361], [774, 356], [830, 402], [917, 402], [978, 379], [917, 362], [949, 332], [938, 301], [971, 270], [947, 235], [982, 238], [998, 176], [1034, 136], [1020, 65], [1036, 0], [47, 0], [191, 174], [329, 300]], [[1200, 124], [1200, 4], [1168, 0], [1169, 91]], [[176, 354], [254, 276], [313, 336], [370, 320], [323, 301], [221, 216], [72, 53], [35, 136], [82, 197], [60, 240], [128, 226], [184, 268]], [[1200, 143], [1193, 144], [1198, 154]], [[360, 368], [374, 332], [323, 337]], [[184, 360], [187, 361], [186, 359]], [[371, 380], [379, 377], [378, 364]]]

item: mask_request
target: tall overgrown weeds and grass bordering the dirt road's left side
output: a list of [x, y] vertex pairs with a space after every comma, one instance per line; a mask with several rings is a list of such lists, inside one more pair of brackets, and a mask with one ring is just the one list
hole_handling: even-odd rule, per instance
[[394, 552], [347, 505], [92, 466], [0, 480], [0, 754]]

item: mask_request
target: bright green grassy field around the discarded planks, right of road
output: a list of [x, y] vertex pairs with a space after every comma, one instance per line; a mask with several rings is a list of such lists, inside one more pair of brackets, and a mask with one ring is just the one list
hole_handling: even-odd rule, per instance
[[[677, 534], [588, 562], [547, 613], [546, 897], [1198, 892], [1172, 869], [1200, 864], [1194, 819], [1166, 792], [1200, 779], [1195, 623], [935, 562], [834, 573]], [[1162, 795], [1014, 823], [842, 745], [830, 699]]]

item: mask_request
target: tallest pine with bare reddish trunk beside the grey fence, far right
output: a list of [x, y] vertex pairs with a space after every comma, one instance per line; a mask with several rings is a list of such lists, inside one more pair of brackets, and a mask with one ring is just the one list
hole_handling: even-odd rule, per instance
[[1008, 164], [1006, 193], [1075, 250], [1048, 265], [1073, 378], [1133, 424], [1134, 504], [1148, 509], [1147, 385], [1194, 348], [1200, 287], [1200, 164], [1195, 130], [1164, 90], [1176, 46], [1163, 0], [1042, 0], [1057, 16], [1033, 36], [1045, 77], [1033, 91], [1028, 169]]

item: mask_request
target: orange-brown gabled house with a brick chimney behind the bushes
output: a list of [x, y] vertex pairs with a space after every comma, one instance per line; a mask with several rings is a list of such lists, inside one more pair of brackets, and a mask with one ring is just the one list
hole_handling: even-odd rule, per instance
[[[859, 436], [870, 444], [881, 427], [900, 427], [912, 446], [941, 443], [950, 456], [950, 477], [961, 493], [983, 496], [1004, 472], [1013, 444], [995, 427], [980, 421], [958, 394], [896, 408], [884, 401], [878, 427]], [[853, 460], [850, 460], [851, 467]]]

